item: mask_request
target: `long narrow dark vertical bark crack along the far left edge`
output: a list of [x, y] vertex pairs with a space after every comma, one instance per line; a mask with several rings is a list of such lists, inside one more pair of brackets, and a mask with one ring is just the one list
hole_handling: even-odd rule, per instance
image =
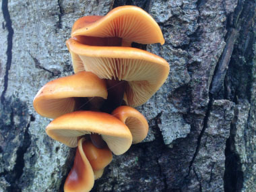
[[11, 16], [9, 14], [8, 9], [8, 0], [2, 1], [2, 13], [3, 18], [5, 20], [5, 27], [7, 28], [8, 34], [7, 34], [7, 61], [5, 66], [5, 76], [4, 76], [4, 82], [3, 82], [3, 92], [1, 94], [1, 103], [5, 100], [5, 92], [8, 87], [8, 76], [9, 76], [9, 69], [11, 69], [11, 59], [12, 59], [12, 40], [13, 40], [13, 28], [11, 26]]

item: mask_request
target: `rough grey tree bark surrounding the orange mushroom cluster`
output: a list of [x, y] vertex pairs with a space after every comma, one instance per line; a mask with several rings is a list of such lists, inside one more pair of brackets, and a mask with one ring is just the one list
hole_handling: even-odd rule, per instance
[[146, 46], [170, 64], [138, 109], [150, 123], [92, 191], [255, 191], [256, 2], [253, 0], [2, 0], [0, 191], [63, 191], [74, 150], [50, 139], [32, 107], [41, 86], [73, 73], [73, 22], [137, 5], [166, 43]]

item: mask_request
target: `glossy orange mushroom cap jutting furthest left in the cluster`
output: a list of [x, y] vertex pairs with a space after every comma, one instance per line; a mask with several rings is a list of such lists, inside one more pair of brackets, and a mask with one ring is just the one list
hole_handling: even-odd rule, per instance
[[36, 94], [36, 112], [55, 119], [75, 109], [75, 97], [107, 98], [106, 82], [92, 72], [82, 71], [45, 84]]

